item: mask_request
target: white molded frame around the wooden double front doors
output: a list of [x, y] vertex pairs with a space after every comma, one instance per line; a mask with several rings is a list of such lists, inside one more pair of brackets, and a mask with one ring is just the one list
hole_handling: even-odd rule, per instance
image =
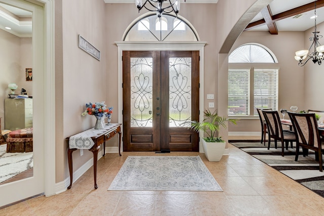
[[[180, 41], [180, 42], [136, 42], [117, 41], [118, 47], [118, 107], [123, 107], [123, 51], [199, 51], [199, 121], [204, 119], [204, 49], [207, 42], [204, 41]], [[118, 112], [118, 122], [123, 121], [123, 113]], [[121, 125], [123, 127], [123, 125]], [[123, 128], [121, 128], [123, 130]], [[200, 136], [203, 136], [200, 134]], [[121, 149], [123, 149], [123, 142]], [[199, 142], [199, 152], [203, 152]]]

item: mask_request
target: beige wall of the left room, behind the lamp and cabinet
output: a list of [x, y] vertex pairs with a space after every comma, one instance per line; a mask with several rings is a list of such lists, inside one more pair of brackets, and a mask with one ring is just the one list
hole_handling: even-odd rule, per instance
[[32, 68], [31, 38], [20, 38], [0, 29], [0, 117], [1, 129], [5, 129], [5, 98], [8, 98], [9, 83], [18, 85], [15, 94], [24, 88], [32, 95], [32, 81], [26, 81], [25, 68]]

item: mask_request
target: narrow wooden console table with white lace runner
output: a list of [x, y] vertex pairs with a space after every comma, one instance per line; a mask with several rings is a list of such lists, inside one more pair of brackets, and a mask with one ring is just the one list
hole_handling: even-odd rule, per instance
[[93, 153], [93, 170], [94, 170], [94, 182], [95, 189], [98, 188], [97, 185], [97, 160], [98, 160], [98, 151], [100, 145], [103, 143], [103, 156], [105, 156], [106, 141], [110, 140], [117, 133], [119, 136], [118, 141], [118, 153], [120, 154], [120, 142], [121, 142], [121, 131], [119, 123], [111, 123], [105, 125], [103, 129], [88, 129], [87, 131], [78, 133], [76, 135], [66, 138], [69, 143], [69, 148], [67, 150], [67, 159], [69, 163], [69, 172], [70, 172], [70, 185], [67, 189], [70, 189], [72, 186], [73, 180], [73, 165], [72, 165], [72, 153], [77, 149], [88, 149]]

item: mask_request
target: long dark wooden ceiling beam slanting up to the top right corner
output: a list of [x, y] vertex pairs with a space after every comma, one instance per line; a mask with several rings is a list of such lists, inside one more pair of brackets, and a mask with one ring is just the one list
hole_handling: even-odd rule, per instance
[[[317, 0], [316, 1], [316, 8], [321, 8], [321, 7], [324, 7], [324, 0]], [[293, 17], [293, 16], [296, 16], [298, 14], [302, 14], [302, 13], [305, 13], [305, 12], [308, 12], [308, 11], [311, 11], [311, 10], [314, 10], [314, 9], [315, 9], [315, 4], [314, 3], [308, 3], [306, 5], [303, 5], [303, 6], [288, 10], [288, 11], [284, 11], [284, 12], [281, 12], [281, 13], [276, 14], [276, 15], [273, 15], [273, 16], [271, 16], [271, 19], [272, 19], [273, 22], [276, 22], [276, 21], [286, 19], [288, 17]], [[245, 28], [245, 31], [256, 28], [256, 27], [259, 27], [259, 26], [262, 26], [262, 25], [265, 25], [265, 24], [267, 24], [265, 19], [249, 23], [249, 25]]]

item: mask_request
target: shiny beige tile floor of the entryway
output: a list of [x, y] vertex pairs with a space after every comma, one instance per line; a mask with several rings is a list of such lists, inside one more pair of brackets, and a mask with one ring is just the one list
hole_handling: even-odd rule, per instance
[[[209, 162], [199, 153], [117, 153], [98, 161], [70, 190], [0, 209], [0, 215], [324, 215], [324, 198], [229, 144]], [[200, 155], [223, 192], [107, 191], [128, 155]]]

